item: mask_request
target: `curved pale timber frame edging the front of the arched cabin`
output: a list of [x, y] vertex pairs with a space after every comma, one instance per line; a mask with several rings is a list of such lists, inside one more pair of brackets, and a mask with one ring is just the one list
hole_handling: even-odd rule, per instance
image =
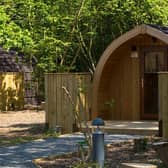
[[156, 29], [154, 27], [151, 27], [149, 25], [140, 25], [135, 27], [134, 29], [128, 31], [127, 33], [121, 35], [119, 38], [114, 40], [104, 51], [102, 56], [100, 57], [100, 60], [98, 62], [98, 65], [96, 67], [95, 73], [94, 73], [94, 79], [93, 79], [93, 99], [92, 99], [92, 118], [95, 118], [99, 116], [99, 108], [98, 108], [98, 96], [99, 96], [99, 89], [100, 89], [100, 83], [102, 82], [102, 75], [103, 70], [106, 67], [109, 59], [113, 57], [120, 46], [127, 43], [131, 39], [140, 36], [140, 35], [148, 35], [150, 37], [154, 37], [157, 40], [160, 40], [164, 44], [168, 44], [168, 35], [164, 32], [160, 31], [159, 29]]

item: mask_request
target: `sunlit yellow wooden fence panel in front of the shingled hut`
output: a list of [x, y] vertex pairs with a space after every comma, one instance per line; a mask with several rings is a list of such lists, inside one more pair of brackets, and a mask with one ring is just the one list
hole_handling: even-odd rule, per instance
[[0, 110], [20, 110], [23, 106], [23, 73], [0, 73]]

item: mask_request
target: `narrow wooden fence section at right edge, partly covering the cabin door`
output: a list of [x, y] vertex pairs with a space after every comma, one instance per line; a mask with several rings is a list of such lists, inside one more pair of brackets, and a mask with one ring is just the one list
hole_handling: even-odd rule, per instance
[[159, 121], [163, 137], [168, 139], [168, 72], [159, 73]]

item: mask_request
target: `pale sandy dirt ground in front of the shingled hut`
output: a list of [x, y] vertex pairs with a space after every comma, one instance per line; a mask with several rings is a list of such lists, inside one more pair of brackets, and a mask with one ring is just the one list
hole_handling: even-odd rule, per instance
[[2, 140], [16, 137], [38, 137], [45, 124], [43, 110], [22, 110], [0, 112], [0, 146]]

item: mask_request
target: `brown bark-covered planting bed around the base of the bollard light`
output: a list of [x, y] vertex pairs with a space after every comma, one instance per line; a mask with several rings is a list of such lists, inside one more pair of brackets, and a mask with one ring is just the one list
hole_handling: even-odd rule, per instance
[[[72, 168], [79, 163], [80, 157], [77, 154], [62, 155], [59, 157], [50, 157], [36, 160], [40, 168]], [[136, 152], [133, 141], [120, 142], [108, 145], [106, 151], [105, 168], [119, 168], [121, 163], [152, 163], [161, 165], [157, 153], [150, 147], [145, 151]], [[79, 166], [80, 167], [80, 166]], [[85, 166], [85, 168], [88, 167]], [[84, 167], [80, 167], [84, 168]], [[162, 168], [166, 168], [163, 167]]]

